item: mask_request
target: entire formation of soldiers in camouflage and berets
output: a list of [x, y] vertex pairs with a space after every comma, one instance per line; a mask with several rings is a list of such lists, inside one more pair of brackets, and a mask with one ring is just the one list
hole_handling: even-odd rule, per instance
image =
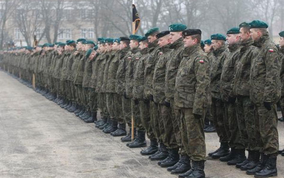
[[200, 46], [199, 29], [172, 24], [97, 45], [78, 39], [4, 51], [1, 68], [29, 86], [34, 75], [37, 92], [103, 132], [125, 136], [129, 148], [146, 146], [146, 134], [150, 146], [141, 154], [180, 178], [205, 177], [205, 117], [220, 138], [209, 156], [255, 177], [276, 176], [284, 31], [279, 49], [267, 28], [244, 22]]

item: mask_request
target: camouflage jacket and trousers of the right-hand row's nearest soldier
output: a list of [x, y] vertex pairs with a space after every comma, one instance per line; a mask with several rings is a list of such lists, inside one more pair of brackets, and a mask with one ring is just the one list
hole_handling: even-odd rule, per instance
[[[277, 106], [281, 97], [280, 56], [277, 46], [266, 33], [258, 41], [255, 60], [250, 71], [250, 101], [254, 105], [256, 139], [261, 152], [266, 155], [277, 155], [279, 149], [277, 131]], [[264, 102], [268, 102], [268, 110]]]

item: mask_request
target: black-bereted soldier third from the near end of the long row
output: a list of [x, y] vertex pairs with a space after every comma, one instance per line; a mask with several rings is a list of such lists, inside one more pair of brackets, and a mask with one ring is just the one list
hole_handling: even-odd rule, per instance
[[168, 55], [170, 51], [170, 31], [163, 31], [156, 35], [159, 45], [159, 56], [154, 68], [153, 74], [153, 100], [158, 105], [158, 127], [161, 140], [168, 151], [168, 156], [164, 160], [158, 161], [161, 167], [171, 167], [179, 161], [179, 145], [173, 131], [173, 123], [171, 119], [171, 109], [166, 105], [165, 100], [165, 76]]

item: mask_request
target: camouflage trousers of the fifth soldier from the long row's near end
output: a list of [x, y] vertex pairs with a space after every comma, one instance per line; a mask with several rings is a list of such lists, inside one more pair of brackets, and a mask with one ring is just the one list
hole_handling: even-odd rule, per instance
[[150, 101], [139, 101], [140, 118], [143, 127], [146, 129], [147, 137], [149, 139], [154, 139], [155, 134], [151, 125], [151, 114], [150, 114]]

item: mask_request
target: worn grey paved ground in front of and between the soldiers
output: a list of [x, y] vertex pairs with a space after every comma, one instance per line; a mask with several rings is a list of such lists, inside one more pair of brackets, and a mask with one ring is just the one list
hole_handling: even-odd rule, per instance
[[[129, 149], [73, 113], [0, 71], [0, 178], [176, 178], [156, 161]], [[279, 123], [284, 148], [283, 122]], [[207, 152], [218, 147], [206, 134]], [[284, 157], [278, 157], [284, 177]], [[206, 161], [208, 178], [248, 178], [217, 160]]]

